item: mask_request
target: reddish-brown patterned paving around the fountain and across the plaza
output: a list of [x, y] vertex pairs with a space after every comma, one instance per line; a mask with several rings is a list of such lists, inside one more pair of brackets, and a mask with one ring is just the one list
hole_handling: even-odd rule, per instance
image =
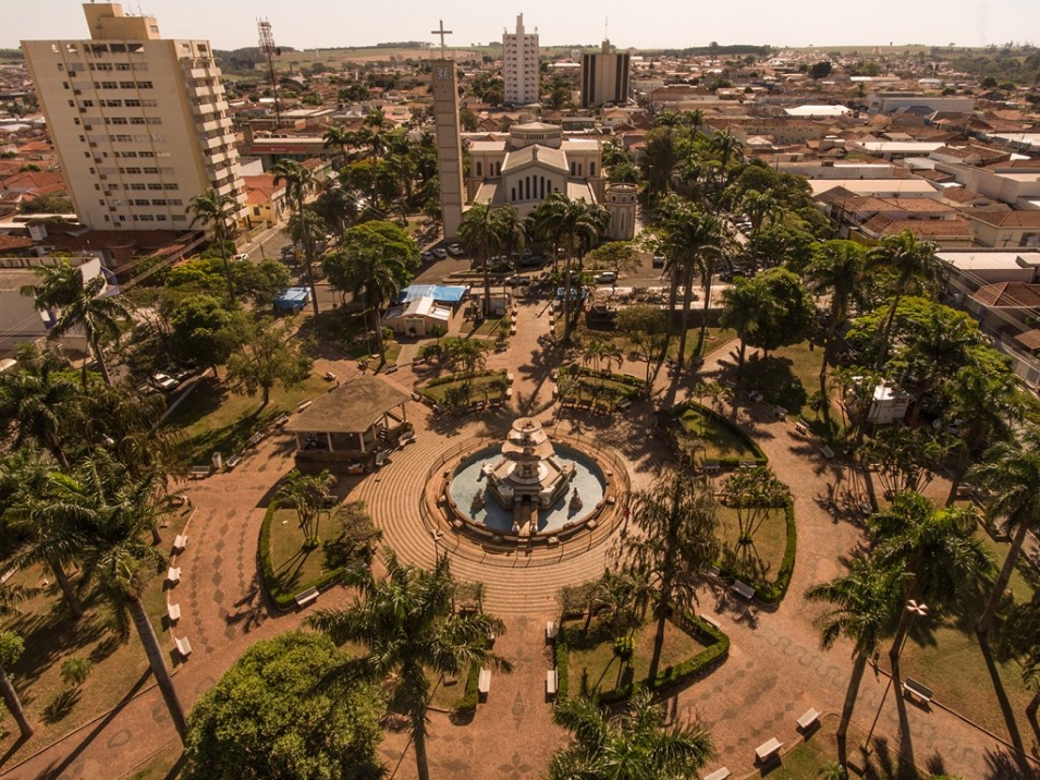
[[[669, 377], [658, 377], [654, 398], [635, 404], [611, 419], [553, 416], [549, 371], [559, 364], [559, 348], [545, 349], [538, 337], [548, 331], [545, 302], [519, 306], [518, 334], [507, 351], [491, 353], [489, 368], [507, 368], [514, 374], [514, 397], [509, 409], [484, 416], [453, 418], [445, 423], [430, 418], [428, 410], [408, 404], [416, 425], [416, 441], [394, 452], [380, 471], [350, 483], [350, 499], [364, 499], [380, 527], [384, 541], [405, 562], [429, 565], [439, 551], [452, 559], [461, 580], [482, 581], [487, 586], [486, 609], [502, 617], [506, 633], [495, 649], [514, 665], [512, 674], [495, 673], [487, 703], [467, 722], [456, 723], [448, 714], [431, 714], [429, 756], [436, 778], [491, 780], [533, 778], [546, 768], [553, 749], [566, 735], [551, 721], [546, 700], [546, 670], [551, 654], [546, 644], [545, 624], [555, 612], [555, 595], [564, 584], [599, 576], [607, 563], [613, 539], [608, 527], [567, 541], [559, 548], [529, 554], [504, 554], [484, 550], [456, 538], [436, 519], [418, 511], [430, 465], [445, 452], [475, 443], [484, 437], [500, 437], [517, 414], [538, 416], [550, 430], [580, 437], [599, 448], [610, 449], [628, 467], [633, 489], [646, 487], [668, 463], [665, 446], [648, 438], [646, 427], [653, 404], [682, 401]], [[733, 344], [717, 349], [701, 368], [712, 375], [731, 361]], [[424, 376], [421, 366], [402, 366], [387, 377], [404, 390]], [[645, 365], [626, 365], [624, 370], [643, 376]], [[356, 367], [346, 361], [321, 361], [320, 371], [333, 370], [348, 381]], [[415, 371], [418, 371], [416, 374]], [[686, 385], [690, 383], [686, 379]], [[677, 395], [677, 398], [675, 398]], [[786, 598], [774, 608], [747, 610], [726, 592], [705, 589], [698, 611], [717, 616], [730, 635], [730, 657], [706, 678], [677, 691], [669, 698], [670, 711], [702, 721], [711, 730], [719, 758], [708, 769], [725, 765], [735, 777], [758, 776], [755, 747], [775, 736], [785, 749], [803, 739], [795, 721], [809, 707], [837, 712], [851, 671], [851, 646], [839, 643], [831, 651], [819, 649], [819, 632], [812, 620], [820, 607], [807, 605], [802, 595], [816, 583], [842, 570], [841, 560], [860, 538], [858, 526], [823, 509], [821, 499], [834, 496], [855, 503], [862, 485], [855, 472], [823, 460], [818, 448], [794, 435], [793, 423], [778, 421], [764, 403], [737, 402], [736, 421], [748, 430], [769, 456], [770, 464], [793, 491], [798, 522], [798, 552], [794, 577]], [[182, 618], [175, 633], [187, 636], [194, 654], [176, 667], [175, 684], [185, 707], [211, 687], [220, 675], [254, 642], [298, 625], [306, 613], [273, 616], [264, 602], [257, 584], [257, 541], [265, 507], [273, 486], [292, 467], [287, 437], [261, 443], [231, 474], [221, 474], [193, 484], [186, 492], [197, 511], [187, 533], [191, 544], [180, 557], [183, 569], [176, 586]], [[946, 486], [933, 486], [937, 496]], [[440, 528], [442, 536], [430, 533]], [[322, 594], [323, 608], [345, 606], [350, 596], [341, 588]], [[172, 637], [167, 637], [172, 649]], [[171, 662], [173, 654], [171, 651]], [[856, 710], [855, 722], [862, 729], [878, 711], [888, 679], [868, 671]], [[967, 778], [1013, 777], [1007, 767], [1018, 767], [1020, 777], [1031, 769], [1010, 758], [998, 740], [971, 727], [939, 706], [898, 706], [900, 697], [889, 695], [880, 714], [877, 734], [895, 749], [910, 755], [918, 766], [939, 757], [952, 773]], [[906, 729], [901, 730], [900, 710]], [[87, 724], [79, 731], [42, 749], [3, 778], [120, 778], [150, 756], [175, 742], [175, 733], [158, 692], [146, 687], [118, 711]], [[1032, 734], [1023, 734], [1025, 747], [1036, 752]], [[851, 743], [851, 747], [853, 747]], [[414, 756], [404, 732], [391, 731], [382, 755], [394, 777], [415, 777]]]

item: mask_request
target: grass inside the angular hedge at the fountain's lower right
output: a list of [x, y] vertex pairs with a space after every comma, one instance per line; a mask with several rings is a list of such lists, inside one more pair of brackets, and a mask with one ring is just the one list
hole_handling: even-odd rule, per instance
[[[629, 680], [646, 679], [653, 651], [653, 633], [657, 624], [648, 619], [635, 633], [635, 653], [628, 663], [614, 654], [613, 642], [607, 629], [594, 620], [585, 633], [585, 621], [573, 620], [564, 624], [567, 637], [568, 691], [571, 696], [583, 692], [605, 693]], [[661, 653], [661, 670], [692, 658], [705, 649], [702, 645], [672, 621], [665, 624], [664, 647]]]

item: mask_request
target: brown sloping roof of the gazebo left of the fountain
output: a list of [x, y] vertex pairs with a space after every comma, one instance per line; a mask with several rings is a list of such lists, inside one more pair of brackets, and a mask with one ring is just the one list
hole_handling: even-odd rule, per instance
[[322, 395], [285, 424], [291, 434], [364, 434], [411, 397], [378, 377], [355, 377]]

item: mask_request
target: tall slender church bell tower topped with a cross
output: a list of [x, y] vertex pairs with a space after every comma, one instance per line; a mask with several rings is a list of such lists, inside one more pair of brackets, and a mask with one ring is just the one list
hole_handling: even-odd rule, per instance
[[441, 22], [433, 35], [441, 38], [440, 57], [430, 65], [433, 72], [433, 124], [437, 129], [437, 178], [441, 188], [441, 219], [444, 237], [454, 239], [462, 222], [462, 136], [458, 133], [458, 84], [455, 61], [448, 57]]

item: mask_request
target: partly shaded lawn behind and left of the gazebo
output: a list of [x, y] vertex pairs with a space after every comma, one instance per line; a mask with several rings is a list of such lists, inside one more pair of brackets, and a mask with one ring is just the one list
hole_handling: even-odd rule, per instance
[[270, 403], [261, 407], [259, 397], [235, 395], [209, 373], [198, 380], [192, 394], [181, 402], [166, 424], [184, 434], [193, 463], [208, 463], [215, 452], [225, 459], [238, 452], [249, 437], [280, 414], [295, 411], [297, 403], [317, 398], [330, 387], [323, 378], [314, 375], [291, 390], [276, 387], [271, 390]]

